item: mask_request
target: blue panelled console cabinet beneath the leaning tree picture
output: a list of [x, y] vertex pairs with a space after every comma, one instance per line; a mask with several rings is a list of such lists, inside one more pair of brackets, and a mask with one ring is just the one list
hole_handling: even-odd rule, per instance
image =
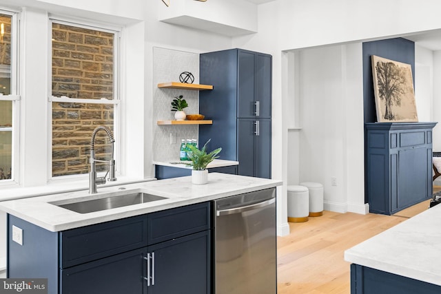
[[372, 213], [391, 215], [432, 196], [436, 123], [366, 123], [366, 191]]

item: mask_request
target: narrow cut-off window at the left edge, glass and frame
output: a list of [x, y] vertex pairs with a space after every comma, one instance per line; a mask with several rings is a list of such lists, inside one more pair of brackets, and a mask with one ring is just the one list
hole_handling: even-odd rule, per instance
[[17, 16], [0, 10], [0, 182], [17, 174]]

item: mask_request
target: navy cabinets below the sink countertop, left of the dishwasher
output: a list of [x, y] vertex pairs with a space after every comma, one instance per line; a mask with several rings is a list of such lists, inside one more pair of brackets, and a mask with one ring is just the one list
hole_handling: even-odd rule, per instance
[[8, 277], [48, 278], [50, 294], [212, 293], [209, 202], [58, 233], [8, 215], [8, 233]]

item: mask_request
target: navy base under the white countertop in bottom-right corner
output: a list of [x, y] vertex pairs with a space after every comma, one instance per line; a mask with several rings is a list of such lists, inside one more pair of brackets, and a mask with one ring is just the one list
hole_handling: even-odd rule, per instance
[[438, 294], [441, 286], [351, 264], [351, 294]]

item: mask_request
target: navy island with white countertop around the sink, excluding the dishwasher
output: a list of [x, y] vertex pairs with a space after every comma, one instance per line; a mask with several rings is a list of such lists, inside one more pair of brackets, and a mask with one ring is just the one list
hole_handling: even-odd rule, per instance
[[[257, 206], [263, 203], [259, 191], [275, 194], [281, 184], [211, 173], [206, 185], [181, 177], [103, 187], [95, 194], [75, 191], [0, 202], [8, 213], [7, 275], [46, 278], [50, 294], [213, 293], [214, 201], [251, 194]], [[95, 210], [96, 203], [108, 198], [135, 202]], [[274, 224], [275, 215], [274, 205]], [[249, 220], [254, 231], [266, 230], [265, 238], [271, 231], [275, 294], [275, 225], [267, 228], [256, 217]]]

